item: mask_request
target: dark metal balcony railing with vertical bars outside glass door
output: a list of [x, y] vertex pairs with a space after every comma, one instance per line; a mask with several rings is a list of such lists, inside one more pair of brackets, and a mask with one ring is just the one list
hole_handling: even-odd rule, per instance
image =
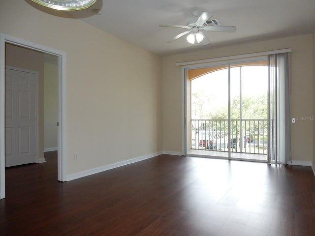
[[268, 119], [192, 119], [191, 149], [267, 154]]

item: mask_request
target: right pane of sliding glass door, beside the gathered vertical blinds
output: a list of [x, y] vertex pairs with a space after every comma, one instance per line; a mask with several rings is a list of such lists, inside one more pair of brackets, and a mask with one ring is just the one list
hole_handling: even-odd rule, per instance
[[267, 60], [230, 65], [230, 157], [267, 161]]

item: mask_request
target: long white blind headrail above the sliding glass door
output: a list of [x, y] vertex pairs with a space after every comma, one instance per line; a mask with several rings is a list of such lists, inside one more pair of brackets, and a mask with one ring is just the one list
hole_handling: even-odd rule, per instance
[[249, 53], [249, 54], [242, 54], [242, 55], [235, 55], [235, 56], [228, 56], [228, 57], [221, 57], [221, 58], [212, 58], [212, 59], [191, 60], [191, 61], [185, 61], [185, 62], [177, 62], [175, 65], [176, 66], [192, 65], [192, 64], [200, 64], [200, 63], [214, 62], [214, 61], [220, 61], [220, 60], [232, 60], [232, 59], [259, 57], [259, 56], [267, 56], [267, 55], [272, 55], [272, 54], [290, 53], [290, 52], [292, 52], [292, 49], [291, 48], [286, 48], [286, 49], [265, 51], [265, 52], [259, 52], [259, 53]]

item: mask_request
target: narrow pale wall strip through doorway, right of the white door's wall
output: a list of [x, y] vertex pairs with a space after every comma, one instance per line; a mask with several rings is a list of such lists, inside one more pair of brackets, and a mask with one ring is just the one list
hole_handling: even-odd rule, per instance
[[[47, 59], [48, 58], [48, 59]], [[52, 59], [50, 59], [52, 58]], [[53, 61], [55, 59], [55, 62]], [[48, 61], [48, 62], [46, 62]], [[57, 57], [45, 55], [44, 63], [44, 149], [57, 148], [58, 122]]]

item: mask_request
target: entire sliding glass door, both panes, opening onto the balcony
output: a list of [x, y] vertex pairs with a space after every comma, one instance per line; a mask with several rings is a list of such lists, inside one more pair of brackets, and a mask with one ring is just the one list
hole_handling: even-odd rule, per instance
[[268, 60], [186, 70], [186, 154], [267, 161]]

